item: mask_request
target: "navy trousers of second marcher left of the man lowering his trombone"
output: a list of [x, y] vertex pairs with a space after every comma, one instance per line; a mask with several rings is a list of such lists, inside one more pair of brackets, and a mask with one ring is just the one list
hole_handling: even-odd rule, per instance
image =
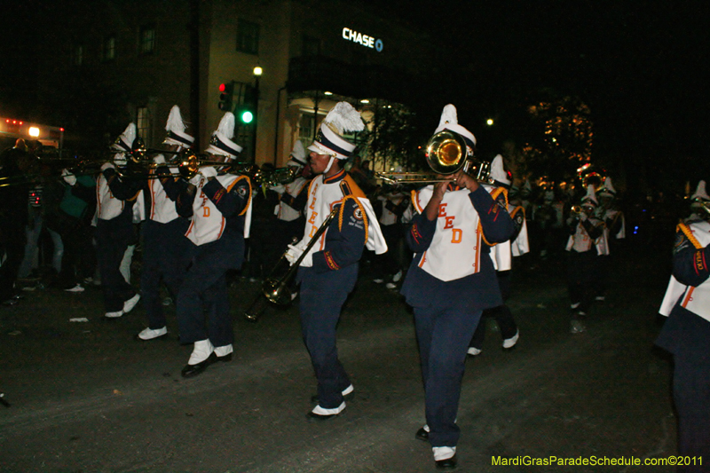
[[167, 224], [146, 220], [143, 223], [143, 266], [140, 293], [148, 316], [148, 327], [165, 327], [162, 312], [161, 281], [177, 297], [185, 274], [185, 253], [192, 243], [185, 237], [190, 222], [176, 218]]

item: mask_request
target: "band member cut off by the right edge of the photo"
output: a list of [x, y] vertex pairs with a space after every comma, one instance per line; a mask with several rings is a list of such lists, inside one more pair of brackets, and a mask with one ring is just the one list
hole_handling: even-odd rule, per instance
[[[673, 275], [659, 312], [667, 316], [656, 344], [675, 360], [673, 398], [678, 414], [678, 453], [710, 458], [710, 196], [700, 181], [693, 215], [678, 224]], [[678, 471], [708, 471], [692, 465]]]

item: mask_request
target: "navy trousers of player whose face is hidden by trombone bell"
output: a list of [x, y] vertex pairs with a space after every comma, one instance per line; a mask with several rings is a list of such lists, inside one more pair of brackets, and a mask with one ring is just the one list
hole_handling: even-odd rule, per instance
[[431, 446], [456, 446], [456, 415], [469, 342], [481, 319], [466, 301], [414, 307]]

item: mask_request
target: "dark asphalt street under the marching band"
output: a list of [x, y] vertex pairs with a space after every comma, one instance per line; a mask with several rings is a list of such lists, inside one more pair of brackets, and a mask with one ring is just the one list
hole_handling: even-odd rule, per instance
[[[628, 245], [613, 261], [588, 331], [569, 333], [564, 260], [518, 260], [509, 306], [520, 341], [502, 351], [491, 321], [468, 359], [458, 423], [461, 472], [675, 471], [659, 466], [536, 466], [496, 459], [661, 459], [676, 453], [671, 360], [653, 347], [669, 250]], [[355, 398], [306, 422], [315, 379], [297, 306], [242, 313], [258, 283], [231, 288], [234, 359], [193, 379], [169, 335], [139, 342], [140, 304], [103, 317], [99, 288], [45, 288], [0, 308], [2, 472], [428, 472], [423, 390], [411, 311], [363, 265], [338, 347]], [[85, 322], [70, 319], [85, 318]], [[710, 460], [710, 459], [708, 459]]]

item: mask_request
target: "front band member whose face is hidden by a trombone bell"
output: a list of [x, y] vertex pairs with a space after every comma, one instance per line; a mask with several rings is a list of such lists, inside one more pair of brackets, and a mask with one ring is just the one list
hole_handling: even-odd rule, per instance
[[[456, 108], [444, 107], [436, 132], [450, 130], [473, 154], [476, 138], [458, 124]], [[513, 222], [505, 207], [463, 171], [450, 181], [413, 193], [418, 214], [406, 233], [414, 259], [401, 289], [414, 307], [414, 323], [426, 396], [426, 425], [438, 468], [456, 466], [460, 429], [456, 414], [466, 350], [481, 311], [502, 304], [489, 244], [509, 240]]]

